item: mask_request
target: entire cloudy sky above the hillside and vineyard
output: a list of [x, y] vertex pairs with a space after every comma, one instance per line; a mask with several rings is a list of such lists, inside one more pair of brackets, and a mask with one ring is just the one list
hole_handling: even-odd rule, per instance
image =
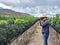
[[60, 0], [0, 0], [0, 7], [37, 17], [42, 13], [52, 16], [60, 13]]

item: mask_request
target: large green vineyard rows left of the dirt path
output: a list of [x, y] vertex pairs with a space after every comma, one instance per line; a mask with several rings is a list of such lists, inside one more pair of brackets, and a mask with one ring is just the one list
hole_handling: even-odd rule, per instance
[[15, 37], [31, 27], [37, 18], [28, 16], [0, 15], [0, 45], [7, 45]]

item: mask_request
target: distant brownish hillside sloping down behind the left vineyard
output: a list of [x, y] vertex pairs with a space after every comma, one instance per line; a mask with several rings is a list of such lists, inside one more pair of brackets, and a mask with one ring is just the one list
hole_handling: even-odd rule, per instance
[[9, 10], [9, 9], [0, 9], [0, 15], [1, 14], [5, 14], [5, 15], [17, 15], [17, 16], [26, 16], [29, 14], [26, 13], [22, 13], [22, 12], [15, 12], [13, 10]]

